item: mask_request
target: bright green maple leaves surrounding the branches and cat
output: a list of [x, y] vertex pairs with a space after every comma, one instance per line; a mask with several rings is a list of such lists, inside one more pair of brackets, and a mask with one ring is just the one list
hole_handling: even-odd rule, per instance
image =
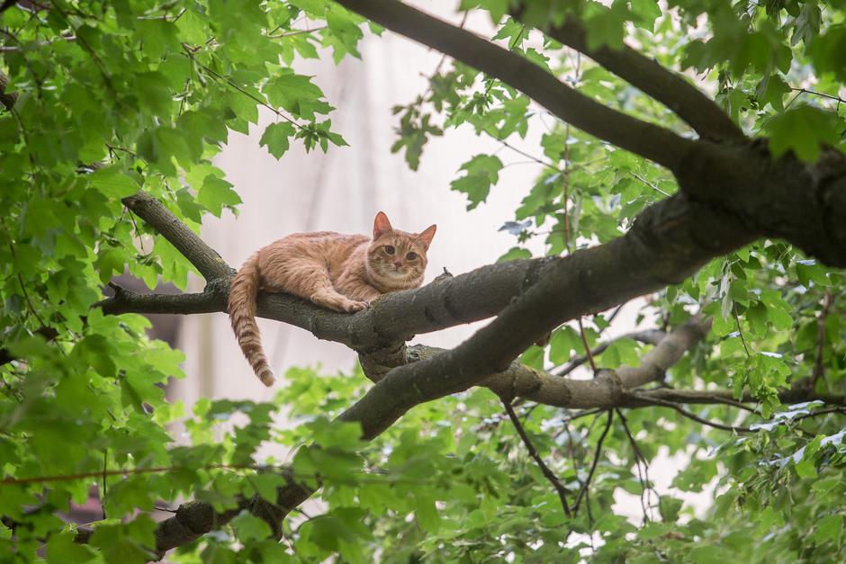
[[[744, 130], [770, 138], [774, 155], [794, 151], [813, 161], [823, 144], [843, 147], [844, 7], [842, 0], [544, 0], [530, 3], [525, 18], [544, 27], [576, 13], [591, 46], [626, 38], [701, 78]], [[490, 14], [493, 40], [582, 94], [687, 131], [631, 85], [510, 19], [508, 8], [508, 0], [461, 3]], [[842, 416], [806, 417], [824, 407], [784, 406], [778, 397], [811, 381], [818, 392], [842, 394], [842, 273], [762, 240], [653, 296], [642, 316], [659, 326], [674, 327], [699, 308], [714, 318], [707, 342], [671, 369], [667, 383], [751, 394], [760, 415], [725, 405], [693, 410], [760, 427], [738, 436], [662, 407], [615, 413], [590, 495], [572, 519], [499, 400], [483, 389], [416, 407], [366, 444], [354, 425], [329, 423], [364, 392], [357, 371], [293, 370], [273, 403], [202, 399], [187, 414], [165, 398], [166, 382], [182, 376], [183, 355], [149, 340], [144, 318], [92, 308], [115, 274], [128, 271], [150, 289], [159, 282], [184, 289], [192, 269], [121, 197], [149, 192], [194, 229], [207, 213], [235, 210], [238, 194], [211, 158], [229, 130], [257, 123], [259, 106], [275, 114], [260, 146], [277, 158], [293, 143], [323, 151], [346, 145], [332, 130], [332, 101], [296, 73], [295, 61], [359, 57], [359, 40], [382, 30], [323, 0], [57, 0], [22, 2], [0, 17], [0, 72], [6, 91], [18, 94], [14, 111], [0, 112], [0, 342], [9, 361], [0, 366], [2, 560], [148, 560], [154, 506], [196, 498], [222, 509], [239, 495], [272, 499], [283, 462], [323, 488], [320, 504], [285, 522], [282, 543], [267, 540], [267, 524], [244, 513], [169, 558], [846, 560]], [[529, 246], [561, 255], [604, 243], [678, 190], [660, 167], [572, 130], [460, 63], [439, 65], [426, 92], [393, 112], [392, 150], [413, 169], [431, 136], [458, 127], [499, 146], [456, 172], [452, 187], [471, 209], [484, 205], [507, 167], [526, 158], [540, 164], [514, 217], [504, 219], [515, 245], [502, 260], [532, 255]], [[530, 129], [540, 134], [534, 149], [524, 148]], [[583, 339], [602, 340], [609, 318], [586, 319], [583, 335], [561, 327], [523, 360], [563, 366], [584, 353]], [[596, 360], [632, 365], [647, 348], [620, 340]], [[274, 425], [280, 409], [294, 417], [292, 428]], [[608, 415], [525, 404], [518, 416], [565, 487], [579, 491]], [[291, 460], [260, 454], [270, 444], [293, 449]], [[668, 457], [682, 470], [671, 493], [659, 496], [646, 462], [668, 464]], [[57, 515], [85, 503], [94, 485], [103, 519], [90, 544], [77, 545], [74, 527]], [[702, 491], [714, 492], [705, 510], [679, 497]]]

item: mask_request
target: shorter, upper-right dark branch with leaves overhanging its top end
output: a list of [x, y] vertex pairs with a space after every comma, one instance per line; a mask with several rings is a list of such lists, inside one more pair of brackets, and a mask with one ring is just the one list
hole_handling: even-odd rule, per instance
[[[523, 7], [515, 12], [519, 19]], [[670, 108], [705, 139], [745, 141], [743, 130], [707, 94], [652, 58], [624, 45], [622, 49], [590, 49], [580, 22], [568, 19], [544, 30], [547, 35], [597, 61], [629, 84]]]

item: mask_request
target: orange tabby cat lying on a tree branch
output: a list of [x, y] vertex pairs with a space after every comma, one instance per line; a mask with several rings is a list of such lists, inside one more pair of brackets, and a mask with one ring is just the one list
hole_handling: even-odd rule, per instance
[[250, 256], [229, 288], [229, 321], [258, 379], [266, 386], [274, 383], [256, 324], [259, 289], [286, 291], [335, 311], [365, 309], [383, 293], [423, 283], [436, 228], [406, 233], [392, 228], [380, 211], [373, 239], [330, 231], [295, 233]]

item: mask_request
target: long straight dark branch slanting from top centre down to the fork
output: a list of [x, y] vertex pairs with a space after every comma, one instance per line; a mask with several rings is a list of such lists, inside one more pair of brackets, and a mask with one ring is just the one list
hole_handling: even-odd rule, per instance
[[397, 0], [337, 0], [391, 31], [434, 47], [463, 63], [499, 78], [580, 130], [677, 171], [689, 139], [671, 130], [612, 110], [576, 92], [545, 69]]

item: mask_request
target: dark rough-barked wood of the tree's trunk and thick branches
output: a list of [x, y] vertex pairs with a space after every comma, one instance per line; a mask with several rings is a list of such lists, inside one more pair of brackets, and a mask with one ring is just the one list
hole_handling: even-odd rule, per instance
[[[717, 115], [716, 104], [679, 76], [632, 49], [590, 50], [583, 31], [572, 23], [549, 32], [666, 104], [703, 139], [681, 138], [596, 103], [516, 53], [406, 4], [395, 0], [339, 0], [339, 4], [500, 78], [599, 139], [666, 166], [681, 187], [679, 194], [645, 209], [625, 235], [604, 245], [564, 258], [493, 264], [444, 276], [424, 288], [385, 296], [355, 315], [262, 293], [258, 300], [262, 317], [305, 328], [360, 352], [375, 384], [340, 418], [359, 422], [365, 438], [381, 433], [419, 403], [474, 385], [486, 386], [508, 400], [522, 397], [568, 408], [736, 405], [729, 390], [642, 389], [662, 380], [681, 354], [704, 336], [707, 325], [698, 318], [664, 336], [644, 355], [641, 366], [600, 371], [593, 380], [561, 378], [515, 359], [563, 322], [680, 282], [711, 258], [756, 238], [784, 238], [825, 264], [846, 265], [846, 158], [841, 153], [827, 150], [815, 165], [790, 155], [774, 160], [765, 142], [745, 139], [727, 116]], [[0, 102], [11, 109], [15, 96], [4, 92], [5, 85], [0, 82]], [[150, 196], [135, 194], [124, 203], [185, 255], [207, 285], [202, 293], [181, 296], [139, 295], [115, 287], [115, 295], [99, 304], [103, 311], [223, 311], [233, 271], [220, 255]], [[452, 350], [405, 345], [414, 335], [494, 316]], [[6, 359], [0, 356], [0, 360]], [[811, 395], [807, 388], [785, 390], [782, 398], [844, 403], [842, 397]], [[278, 536], [284, 515], [313, 493], [288, 478], [275, 506], [258, 499], [241, 500], [223, 513], [199, 502], [180, 506], [158, 525], [157, 551], [163, 554], [192, 542], [243, 509], [266, 519]], [[88, 536], [81, 531], [77, 540], [85, 542]]]

